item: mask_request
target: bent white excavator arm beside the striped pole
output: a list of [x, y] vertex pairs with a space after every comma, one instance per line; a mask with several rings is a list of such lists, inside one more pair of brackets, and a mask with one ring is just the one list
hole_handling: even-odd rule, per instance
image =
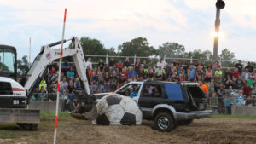
[[[84, 60], [84, 52], [81, 44], [79, 43], [78, 37], [72, 37], [71, 39], [64, 40], [72, 41], [70, 48], [63, 49], [62, 57], [72, 56], [75, 63], [79, 78], [83, 83], [84, 91], [87, 95], [90, 94], [89, 81], [86, 76], [86, 62]], [[55, 45], [61, 44], [61, 41], [56, 43], [50, 43], [42, 47], [40, 53], [35, 58], [30, 70], [26, 75], [26, 83], [24, 85], [27, 90], [28, 96], [32, 95], [33, 90], [38, 83], [42, 80], [45, 73], [47, 72], [47, 66], [50, 65], [54, 60], [60, 59], [61, 49], [52, 49]]]

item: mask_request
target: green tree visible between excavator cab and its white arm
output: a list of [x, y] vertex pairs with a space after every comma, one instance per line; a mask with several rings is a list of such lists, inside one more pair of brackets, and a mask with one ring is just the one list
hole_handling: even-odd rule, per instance
[[17, 73], [19, 77], [26, 75], [29, 70], [29, 62], [27, 60], [27, 55], [22, 56], [21, 59], [17, 60]]

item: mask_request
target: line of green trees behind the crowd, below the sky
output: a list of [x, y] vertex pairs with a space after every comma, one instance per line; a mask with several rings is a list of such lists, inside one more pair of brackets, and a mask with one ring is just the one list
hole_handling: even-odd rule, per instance
[[[212, 60], [212, 52], [209, 50], [202, 51], [195, 49], [193, 51], [186, 51], [182, 44], [175, 42], [166, 42], [161, 44], [158, 48], [154, 48], [148, 43], [147, 38], [137, 37], [119, 44], [118, 48], [106, 48], [104, 44], [96, 39], [90, 37], [80, 38], [81, 46], [84, 50], [84, 55], [119, 55], [119, 56], [143, 56], [148, 57], [151, 55], [170, 58], [186, 58], [186, 59], [199, 59], [199, 60]], [[211, 48], [212, 49], [212, 48]], [[72, 60], [71, 58], [67, 58]], [[97, 61], [99, 58], [92, 58]], [[229, 49], [223, 49], [218, 55], [219, 60], [234, 60], [235, 54]], [[169, 62], [169, 61], [167, 61]], [[22, 77], [29, 70], [27, 55], [24, 55], [18, 64], [18, 75]], [[229, 62], [229, 65], [233, 65]]]

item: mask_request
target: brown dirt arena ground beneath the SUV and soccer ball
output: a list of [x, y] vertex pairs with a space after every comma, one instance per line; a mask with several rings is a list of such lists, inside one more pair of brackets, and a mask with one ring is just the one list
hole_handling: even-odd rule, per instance
[[[118, 144], [245, 144], [256, 143], [256, 120], [241, 118], [207, 118], [194, 120], [189, 126], [177, 126], [169, 133], [152, 130], [152, 122], [143, 121], [138, 126], [99, 126], [90, 121], [73, 118], [60, 119], [57, 143], [118, 143]], [[42, 119], [37, 131], [20, 131], [15, 126], [1, 126], [13, 137], [0, 139], [0, 143], [52, 143], [54, 119]], [[17, 135], [20, 133], [22, 135]]]

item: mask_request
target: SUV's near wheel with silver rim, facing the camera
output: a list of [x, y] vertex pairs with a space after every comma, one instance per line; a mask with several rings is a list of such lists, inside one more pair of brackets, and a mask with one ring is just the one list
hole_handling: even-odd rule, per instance
[[161, 132], [168, 132], [175, 128], [176, 124], [172, 118], [172, 114], [168, 112], [160, 112], [154, 118], [154, 128]]

